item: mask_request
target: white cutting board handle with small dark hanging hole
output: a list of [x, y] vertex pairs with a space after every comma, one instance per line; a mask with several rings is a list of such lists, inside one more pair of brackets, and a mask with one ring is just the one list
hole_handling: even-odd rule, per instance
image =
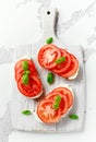
[[41, 10], [41, 21], [45, 38], [55, 36], [56, 15], [57, 15], [56, 9]]

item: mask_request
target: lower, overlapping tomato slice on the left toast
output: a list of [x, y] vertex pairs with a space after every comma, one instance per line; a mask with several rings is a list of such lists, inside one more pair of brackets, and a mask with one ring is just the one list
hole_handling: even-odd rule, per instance
[[37, 76], [29, 75], [28, 84], [22, 82], [22, 78], [17, 82], [19, 91], [27, 97], [36, 97], [43, 90], [41, 82]]

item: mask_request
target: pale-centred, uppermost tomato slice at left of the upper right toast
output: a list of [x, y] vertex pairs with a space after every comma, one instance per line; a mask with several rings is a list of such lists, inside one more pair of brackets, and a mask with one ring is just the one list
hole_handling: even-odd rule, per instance
[[38, 62], [46, 69], [52, 69], [57, 66], [56, 59], [61, 57], [60, 49], [52, 45], [45, 45], [38, 52]]

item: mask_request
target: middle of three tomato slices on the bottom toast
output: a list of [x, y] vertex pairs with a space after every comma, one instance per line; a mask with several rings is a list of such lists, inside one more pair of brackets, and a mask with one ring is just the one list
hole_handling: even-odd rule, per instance
[[52, 99], [55, 102], [56, 96], [61, 96], [59, 109], [61, 111], [61, 115], [64, 115], [68, 110], [68, 99], [67, 99], [65, 95], [62, 95], [59, 92], [51, 92], [47, 95], [46, 99]]

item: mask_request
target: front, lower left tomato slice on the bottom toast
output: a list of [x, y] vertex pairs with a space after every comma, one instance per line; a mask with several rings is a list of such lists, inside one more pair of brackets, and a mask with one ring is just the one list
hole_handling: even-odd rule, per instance
[[44, 99], [37, 106], [37, 116], [46, 123], [56, 123], [61, 118], [60, 109], [52, 108], [53, 100]]

